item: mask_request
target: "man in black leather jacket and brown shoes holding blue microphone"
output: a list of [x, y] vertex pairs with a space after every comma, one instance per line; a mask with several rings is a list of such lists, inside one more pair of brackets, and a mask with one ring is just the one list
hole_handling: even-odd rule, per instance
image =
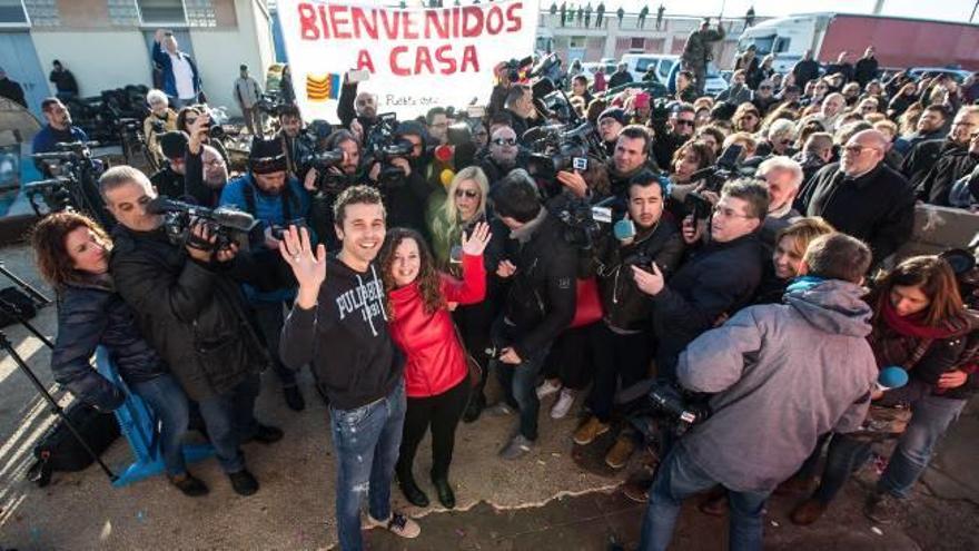
[[[595, 383], [589, 396], [592, 416], [575, 431], [576, 444], [589, 444], [609, 431], [620, 377], [623, 388], [646, 377], [654, 350], [649, 331], [653, 304], [636, 287], [630, 267], [655, 262], [672, 274], [680, 264], [683, 238], [676, 225], [662, 218], [665, 195], [663, 184], [652, 171], [633, 176], [625, 217], [614, 232], [603, 234], [595, 246], [593, 262], [604, 317], [589, 335], [595, 366]], [[622, 226], [627, 230], [620, 230]], [[621, 465], [624, 461], [617, 457], [629, 457], [632, 440], [616, 442], [615, 447], [621, 451], [610, 451], [605, 461]]]

